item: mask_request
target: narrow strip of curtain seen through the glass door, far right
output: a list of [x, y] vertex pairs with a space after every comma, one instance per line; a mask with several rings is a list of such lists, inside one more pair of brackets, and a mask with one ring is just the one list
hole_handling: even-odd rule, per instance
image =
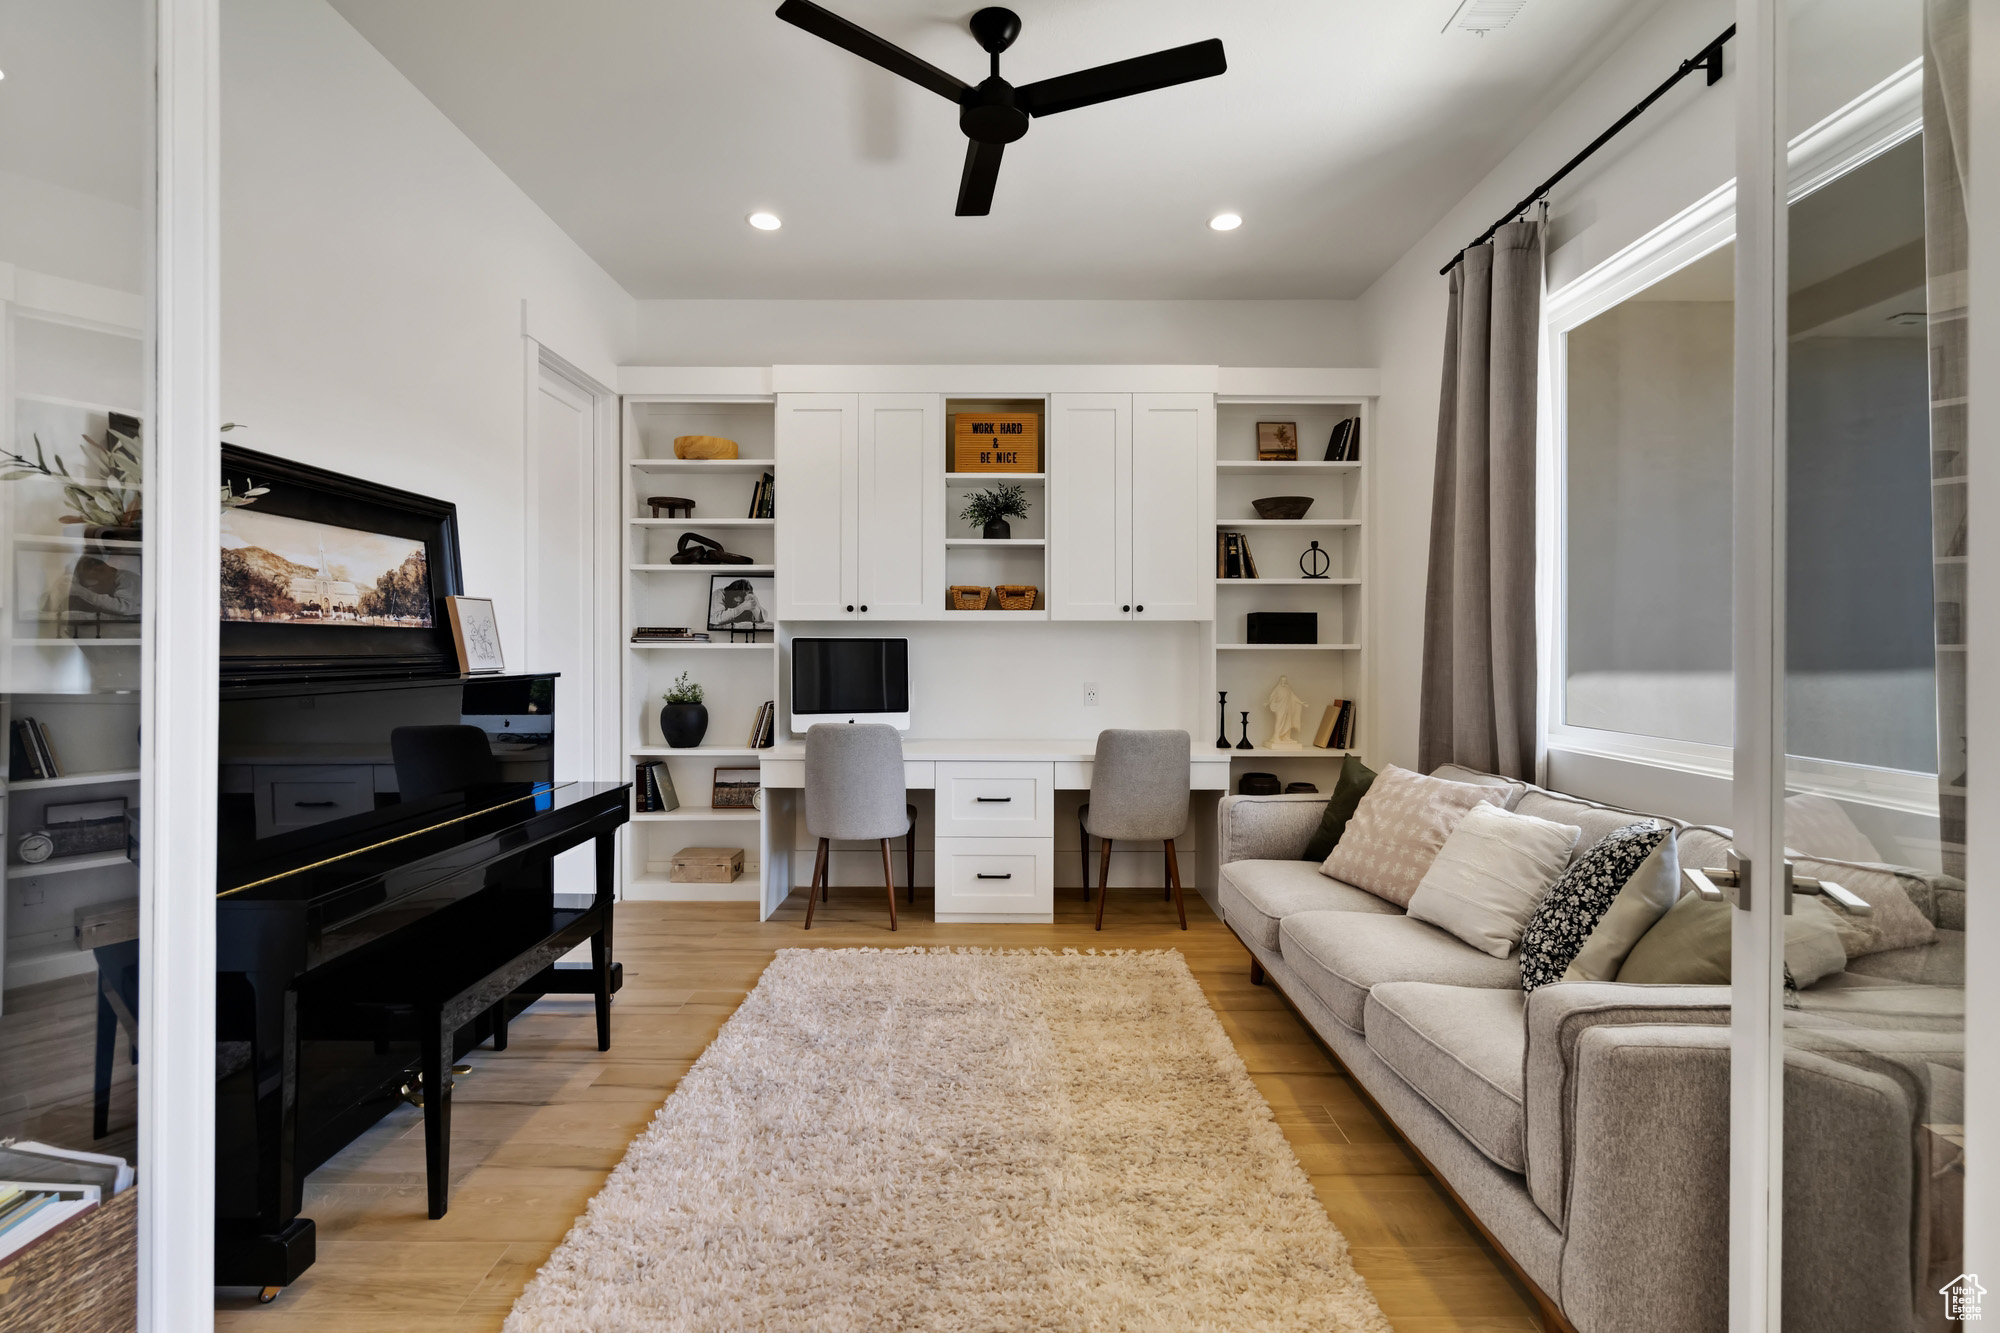
[[1966, 873], [1966, 0], [1924, 4], [1924, 266], [1930, 310], [1930, 522], [1938, 606], [1938, 839]]

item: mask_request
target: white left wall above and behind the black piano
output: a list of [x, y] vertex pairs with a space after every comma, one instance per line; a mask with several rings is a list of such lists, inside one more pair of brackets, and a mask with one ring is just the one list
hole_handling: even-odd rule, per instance
[[634, 302], [324, 0], [222, 4], [232, 442], [458, 504], [524, 648], [526, 328], [600, 382]]

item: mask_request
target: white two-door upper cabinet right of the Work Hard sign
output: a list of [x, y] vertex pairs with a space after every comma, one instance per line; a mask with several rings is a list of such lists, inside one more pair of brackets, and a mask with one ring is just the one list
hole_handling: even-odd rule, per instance
[[1210, 394], [1052, 394], [1048, 474], [1052, 618], [1214, 616]]

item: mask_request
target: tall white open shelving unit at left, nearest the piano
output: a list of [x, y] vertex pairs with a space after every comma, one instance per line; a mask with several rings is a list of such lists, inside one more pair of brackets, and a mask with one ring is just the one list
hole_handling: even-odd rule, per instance
[[[714, 809], [716, 769], [754, 769], [760, 751], [746, 745], [758, 707], [778, 699], [776, 628], [754, 642], [632, 642], [640, 624], [708, 628], [714, 578], [770, 580], [778, 572], [772, 518], [750, 518], [750, 496], [774, 460], [772, 398], [624, 400], [624, 751], [626, 779], [636, 765], [666, 761], [680, 809], [638, 813], [624, 835], [624, 893], [632, 899], [742, 899], [754, 903], [762, 881], [762, 811]], [[736, 458], [676, 458], [674, 436], [718, 434], [736, 440]], [[692, 516], [654, 518], [650, 496], [694, 500]], [[784, 504], [782, 484], [776, 502]], [[684, 532], [700, 532], [750, 564], [674, 564]], [[770, 586], [768, 582], [764, 586]], [[764, 598], [766, 622], [776, 604]], [[702, 745], [674, 749], [660, 735], [660, 697], [680, 673], [702, 685], [708, 733]], [[752, 827], [758, 827], [752, 831]], [[676, 885], [668, 869], [684, 847], [742, 847], [744, 873], [732, 885]]]

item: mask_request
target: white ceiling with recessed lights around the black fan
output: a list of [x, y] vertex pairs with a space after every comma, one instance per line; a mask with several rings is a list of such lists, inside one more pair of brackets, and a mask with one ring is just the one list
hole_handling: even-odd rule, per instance
[[[956, 218], [956, 108], [776, 0], [332, 0], [642, 298], [1358, 296], [1654, 2], [1016, 0], [1014, 84], [1210, 36], [1230, 70], [1034, 122]], [[984, 74], [976, 0], [828, 8]]]

